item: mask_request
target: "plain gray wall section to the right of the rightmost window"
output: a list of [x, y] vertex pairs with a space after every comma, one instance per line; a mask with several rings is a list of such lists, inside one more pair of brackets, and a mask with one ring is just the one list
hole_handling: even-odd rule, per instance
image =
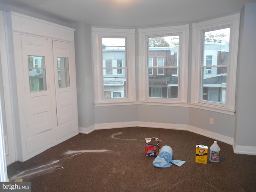
[[256, 3], [241, 12], [236, 94], [237, 145], [256, 146]]

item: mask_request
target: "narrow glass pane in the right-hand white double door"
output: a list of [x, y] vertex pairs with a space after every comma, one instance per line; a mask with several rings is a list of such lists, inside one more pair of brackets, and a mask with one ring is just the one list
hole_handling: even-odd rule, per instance
[[59, 88], [69, 87], [70, 82], [69, 82], [68, 58], [58, 57], [57, 63], [58, 63]]

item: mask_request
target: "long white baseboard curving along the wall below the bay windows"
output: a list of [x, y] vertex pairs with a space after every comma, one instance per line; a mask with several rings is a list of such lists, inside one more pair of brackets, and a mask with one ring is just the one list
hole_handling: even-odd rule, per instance
[[124, 127], [150, 127], [150, 128], [190, 131], [196, 134], [200, 134], [200, 135], [224, 142], [226, 144], [230, 144], [233, 146], [234, 153], [256, 155], [256, 147], [254, 146], [237, 146], [234, 142], [234, 138], [232, 137], [224, 136], [219, 133], [215, 133], [212, 131], [204, 130], [202, 128], [198, 128], [198, 127], [194, 127], [186, 124], [170, 124], [170, 123], [141, 122], [141, 121], [116, 122], [116, 123], [95, 124], [88, 128], [79, 127], [79, 132], [84, 134], [89, 134], [94, 130], [124, 128]]

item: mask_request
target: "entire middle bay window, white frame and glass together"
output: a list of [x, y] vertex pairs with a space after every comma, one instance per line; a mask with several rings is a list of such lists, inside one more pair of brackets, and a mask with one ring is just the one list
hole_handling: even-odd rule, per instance
[[139, 29], [139, 100], [187, 102], [189, 25]]

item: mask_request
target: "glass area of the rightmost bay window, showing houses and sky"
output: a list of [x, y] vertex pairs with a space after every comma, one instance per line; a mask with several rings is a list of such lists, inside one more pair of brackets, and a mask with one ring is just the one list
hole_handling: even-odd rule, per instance
[[229, 36], [230, 28], [204, 32], [202, 100], [226, 103]]

